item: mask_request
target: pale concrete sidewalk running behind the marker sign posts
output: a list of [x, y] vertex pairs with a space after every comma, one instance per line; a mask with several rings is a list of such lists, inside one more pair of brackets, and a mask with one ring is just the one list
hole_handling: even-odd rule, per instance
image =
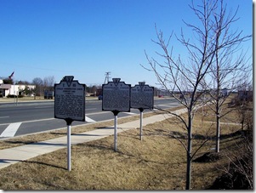
[[[185, 112], [185, 109], [174, 111], [177, 114]], [[154, 123], [161, 122], [172, 115], [170, 114], [160, 114], [156, 116], [150, 116], [143, 118], [143, 126]], [[121, 133], [131, 128], [139, 128], [140, 120], [133, 122], [125, 122], [117, 125], [117, 133]], [[114, 134], [114, 126], [110, 128], [100, 128], [93, 131], [88, 131], [85, 133], [77, 133], [71, 135], [71, 145], [77, 145], [86, 143], [88, 141], [105, 138], [107, 136]], [[0, 169], [8, 167], [16, 162], [25, 161], [31, 159], [35, 156], [40, 156], [43, 154], [50, 153], [54, 150], [60, 150], [67, 147], [67, 136], [49, 139], [29, 145], [21, 145], [14, 148], [9, 148], [5, 150], [0, 150]]]

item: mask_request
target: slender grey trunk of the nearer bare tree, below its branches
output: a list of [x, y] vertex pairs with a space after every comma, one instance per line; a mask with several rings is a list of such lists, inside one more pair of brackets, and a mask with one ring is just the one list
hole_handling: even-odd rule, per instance
[[192, 151], [192, 117], [189, 116], [187, 162], [186, 162], [186, 185], [185, 185], [186, 190], [191, 189], [191, 151]]

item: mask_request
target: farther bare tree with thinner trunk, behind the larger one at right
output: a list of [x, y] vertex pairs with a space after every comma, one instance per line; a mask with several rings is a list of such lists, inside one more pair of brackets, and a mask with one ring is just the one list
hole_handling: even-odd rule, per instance
[[231, 26], [238, 20], [236, 12], [233, 14], [227, 10], [223, 0], [219, 0], [218, 13], [213, 15], [213, 33], [216, 52], [213, 64], [210, 66], [210, 82], [203, 82], [204, 88], [210, 92], [211, 109], [216, 115], [216, 146], [219, 152], [220, 119], [230, 111], [222, 113], [225, 100], [229, 92], [237, 90], [237, 86], [248, 77], [252, 70], [252, 64], [248, 63], [247, 52], [243, 52], [242, 43], [248, 41], [252, 35], [242, 36], [242, 31], [233, 31]]

